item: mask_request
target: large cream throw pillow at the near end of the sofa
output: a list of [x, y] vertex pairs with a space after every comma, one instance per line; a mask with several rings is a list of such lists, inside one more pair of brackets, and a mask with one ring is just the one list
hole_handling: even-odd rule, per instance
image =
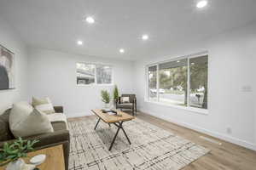
[[48, 116], [31, 105], [17, 103], [9, 115], [9, 127], [15, 138], [54, 132]]

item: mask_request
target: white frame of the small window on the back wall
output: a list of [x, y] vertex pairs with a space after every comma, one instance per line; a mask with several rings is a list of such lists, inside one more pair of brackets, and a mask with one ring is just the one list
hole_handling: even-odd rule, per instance
[[[87, 86], [87, 87], [90, 87], [90, 86], [113, 86], [113, 65], [108, 65], [108, 64], [102, 64], [102, 63], [90, 63], [90, 62], [76, 62], [76, 78], [77, 78], [77, 64], [78, 63], [81, 63], [81, 64], [84, 64], [84, 65], [95, 65], [95, 74], [94, 74], [94, 78], [95, 78], [95, 82], [94, 83], [91, 83], [91, 84], [78, 84], [76, 83], [77, 86], [79, 87], [83, 87], [83, 86]], [[109, 66], [111, 67], [111, 82], [110, 83], [103, 83], [103, 84], [100, 84], [100, 83], [97, 83], [97, 77], [96, 77], [96, 68], [97, 68], [97, 65], [103, 65], [103, 66]]]

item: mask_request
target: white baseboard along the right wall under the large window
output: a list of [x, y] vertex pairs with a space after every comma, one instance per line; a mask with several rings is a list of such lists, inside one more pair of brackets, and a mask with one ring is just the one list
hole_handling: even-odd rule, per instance
[[247, 149], [250, 149], [250, 150], [256, 150], [256, 144], [252, 144], [252, 143], [249, 143], [243, 139], [237, 139], [237, 138], [234, 138], [234, 137], [231, 137], [231, 136], [228, 136], [226, 134], [223, 134], [223, 133], [218, 133], [218, 132], [213, 132], [211, 130], [208, 130], [206, 128], [203, 128], [203, 127], [198, 127], [198, 126], [195, 126], [195, 125], [192, 125], [192, 124], [189, 124], [189, 123], [186, 123], [186, 122], [178, 122], [178, 121], [175, 121], [175, 120], [172, 120], [168, 117], [165, 117], [165, 116], [160, 116], [156, 113], [153, 113], [151, 111], [144, 111], [144, 110], [140, 110], [142, 111], [143, 113], [146, 113], [148, 115], [151, 115], [151, 116], [156, 116], [156, 117], [159, 117], [163, 120], [166, 120], [168, 122], [173, 122], [177, 125], [180, 125], [180, 126], [183, 126], [183, 127], [188, 127], [190, 129], [193, 129], [195, 131], [198, 131], [200, 133], [206, 133], [210, 136], [213, 136], [215, 138], [218, 138], [218, 139], [223, 139], [225, 141], [228, 141], [232, 144], [238, 144], [238, 145], [241, 145]]

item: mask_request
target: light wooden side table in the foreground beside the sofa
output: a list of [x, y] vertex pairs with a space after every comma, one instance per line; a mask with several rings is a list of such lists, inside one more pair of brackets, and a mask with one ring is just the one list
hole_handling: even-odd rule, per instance
[[[27, 154], [28, 157], [22, 158], [26, 163], [32, 156], [37, 156], [39, 154], [46, 155], [44, 163], [38, 166], [40, 170], [65, 170], [65, 161], [63, 156], [62, 144], [55, 145], [43, 150], [32, 151]], [[0, 167], [0, 170], [5, 170], [5, 167]]]

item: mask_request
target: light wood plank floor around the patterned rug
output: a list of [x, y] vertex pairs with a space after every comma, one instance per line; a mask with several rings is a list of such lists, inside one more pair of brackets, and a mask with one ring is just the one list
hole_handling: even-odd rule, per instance
[[[89, 117], [92, 118], [92, 116], [84, 116], [70, 118], [69, 121], [76, 121]], [[189, 166], [184, 167], [183, 170], [256, 170], [256, 152], [253, 150], [248, 150], [236, 144], [230, 144], [229, 142], [213, 138], [203, 133], [198, 133], [189, 128], [181, 127], [172, 122], [167, 122], [144, 113], [137, 113], [137, 117], [185, 139], [189, 139], [196, 144], [201, 144], [211, 150], [206, 156], [202, 156]], [[221, 142], [222, 145], [214, 144], [199, 138], [202, 135], [217, 140], [218, 142]]]

